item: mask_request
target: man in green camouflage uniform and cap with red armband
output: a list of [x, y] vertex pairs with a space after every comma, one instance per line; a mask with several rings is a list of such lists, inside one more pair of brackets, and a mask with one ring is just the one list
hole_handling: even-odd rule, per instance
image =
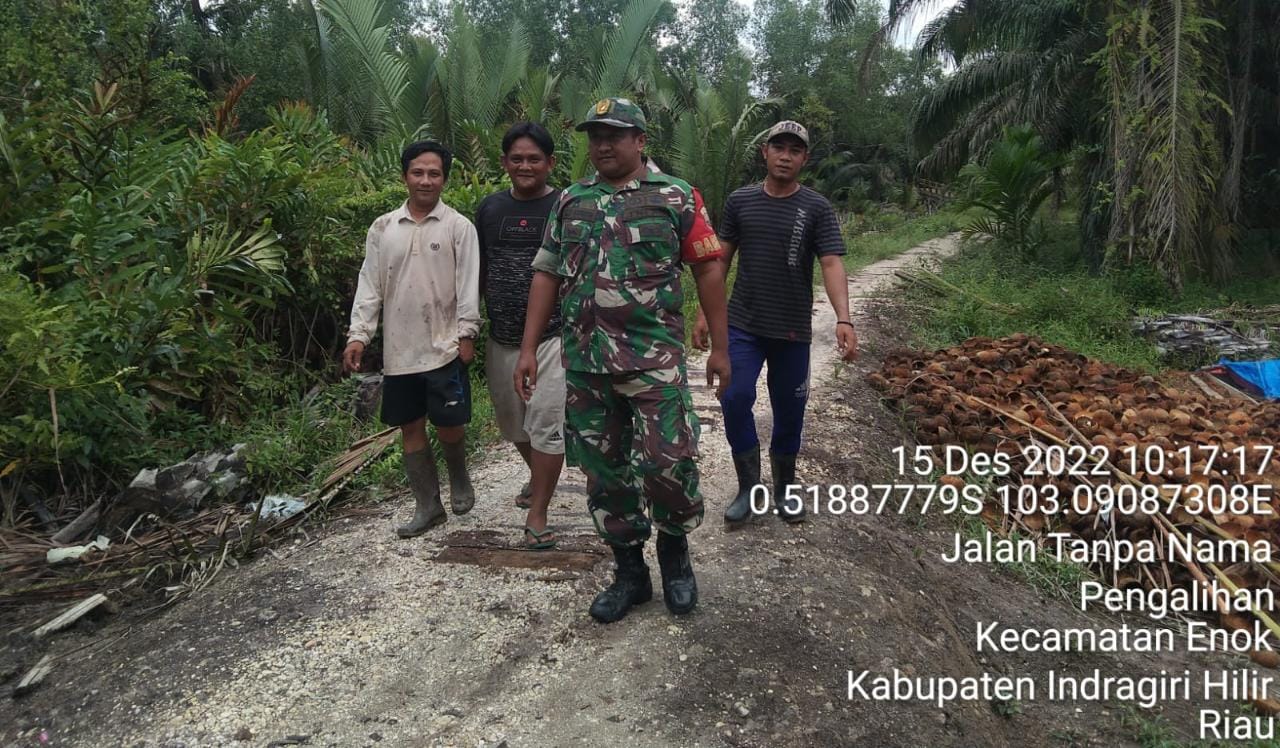
[[[703, 520], [698, 421], [685, 373], [681, 264], [692, 265], [712, 332], [707, 384], [728, 384], [728, 323], [719, 241], [701, 195], [644, 158], [644, 113], [626, 99], [598, 102], [588, 132], [596, 174], [561, 196], [534, 259], [515, 387], [536, 384], [534, 351], [562, 295], [566, 457], [588, 478], [595, 528], [613, 549], [613, 584], [591, 616], [611, 622], [653, 597], [644, 543], [658, 530], [663, 599], [698, 603], [686, 534]], [[646, 516], [645, 507], [650, 507]]]

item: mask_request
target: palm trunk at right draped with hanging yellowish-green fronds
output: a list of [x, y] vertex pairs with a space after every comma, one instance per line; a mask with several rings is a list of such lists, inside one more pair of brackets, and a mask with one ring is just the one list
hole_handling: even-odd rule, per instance
[[1175, 289], [1190, 266], [1230, 268], [1231, 248], [1212, 231], [1222, 173], [1211, 51], [1219, 29], [1196, 0], [1120, 1], [1105, 47], [1108, 243], [1151, 261]]

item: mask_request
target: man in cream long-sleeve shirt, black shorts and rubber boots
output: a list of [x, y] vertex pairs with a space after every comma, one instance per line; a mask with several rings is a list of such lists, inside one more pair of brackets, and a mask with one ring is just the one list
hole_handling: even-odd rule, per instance
[[480, 243], [471, 222], [440, 201], [452, 163], [448, 149], [434, 141], [401, 154], [408, 199], [369, 228], [343, 351], [346, 369], [358, 371], [381, 315], [381, 418], [401, 428], [404, 471], [416, 500], [413, 519], [396, 529], [402, 538], [448, 519], [428, 420], [444, 452], [453, 514], [475, 505], [465, 427], [471, 421], [467, 365], [480, 332]]

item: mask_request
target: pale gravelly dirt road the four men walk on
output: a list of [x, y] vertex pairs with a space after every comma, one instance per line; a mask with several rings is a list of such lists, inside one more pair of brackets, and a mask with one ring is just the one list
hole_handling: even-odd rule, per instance
[[[928, 242], [851, 278], [864, 350], [854, 366], [835, 364], [833, 318], [818, 295], [803, 482], [893, 479], [888, 450], [902, 435], [863, 374], [904, 333], [892, 306], [867, 297], [893, 268], [954, 248], [954, 238]], [[1096, 621], [1001, 573], [943, 565], [955, 530], [943, 517], [819, 516], [795, 528], [771, 519], [724, 532], [732, 464], [714, 398], [695, 396], [708, 511], [691, 541], [701, 603], [689, 617], [655, 599], [622, 622], [593, 622], [586, 608], [611, 566], [603, 555], [589, 569], [595, 557], [566, 555], [567, 570], [434, 560], [447, 537], [518, 541], [511, 500], [524, 469], [498, 447], [475, 471], [475, 511], [443, 533], [397, 539], [402, 497], [227, 571], [157, 619], [64, 635], [63, 651], [124, 634], [68, 658], [26, 699], [5, 699], [0, 743], [37, 745], [44, 730], [56, 745], [1117, 745], [1134, 736], [1117, 708], [850, 701], [847, 672], [1187, 665], [979, 658], [978, 620]], [[603, 552], [584, 505], [581, 475], [568, 470], [552, 524], [584, 537], [571, 548]]]

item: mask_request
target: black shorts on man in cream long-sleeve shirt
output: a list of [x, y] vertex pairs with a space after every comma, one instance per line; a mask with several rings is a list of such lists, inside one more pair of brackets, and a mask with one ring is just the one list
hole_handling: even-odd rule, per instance
[[462, 359], [416, 374], [383, 377], [383, 423], [402, 427], [426, 416], [434, 427], [471, 423], [471, 375]]

